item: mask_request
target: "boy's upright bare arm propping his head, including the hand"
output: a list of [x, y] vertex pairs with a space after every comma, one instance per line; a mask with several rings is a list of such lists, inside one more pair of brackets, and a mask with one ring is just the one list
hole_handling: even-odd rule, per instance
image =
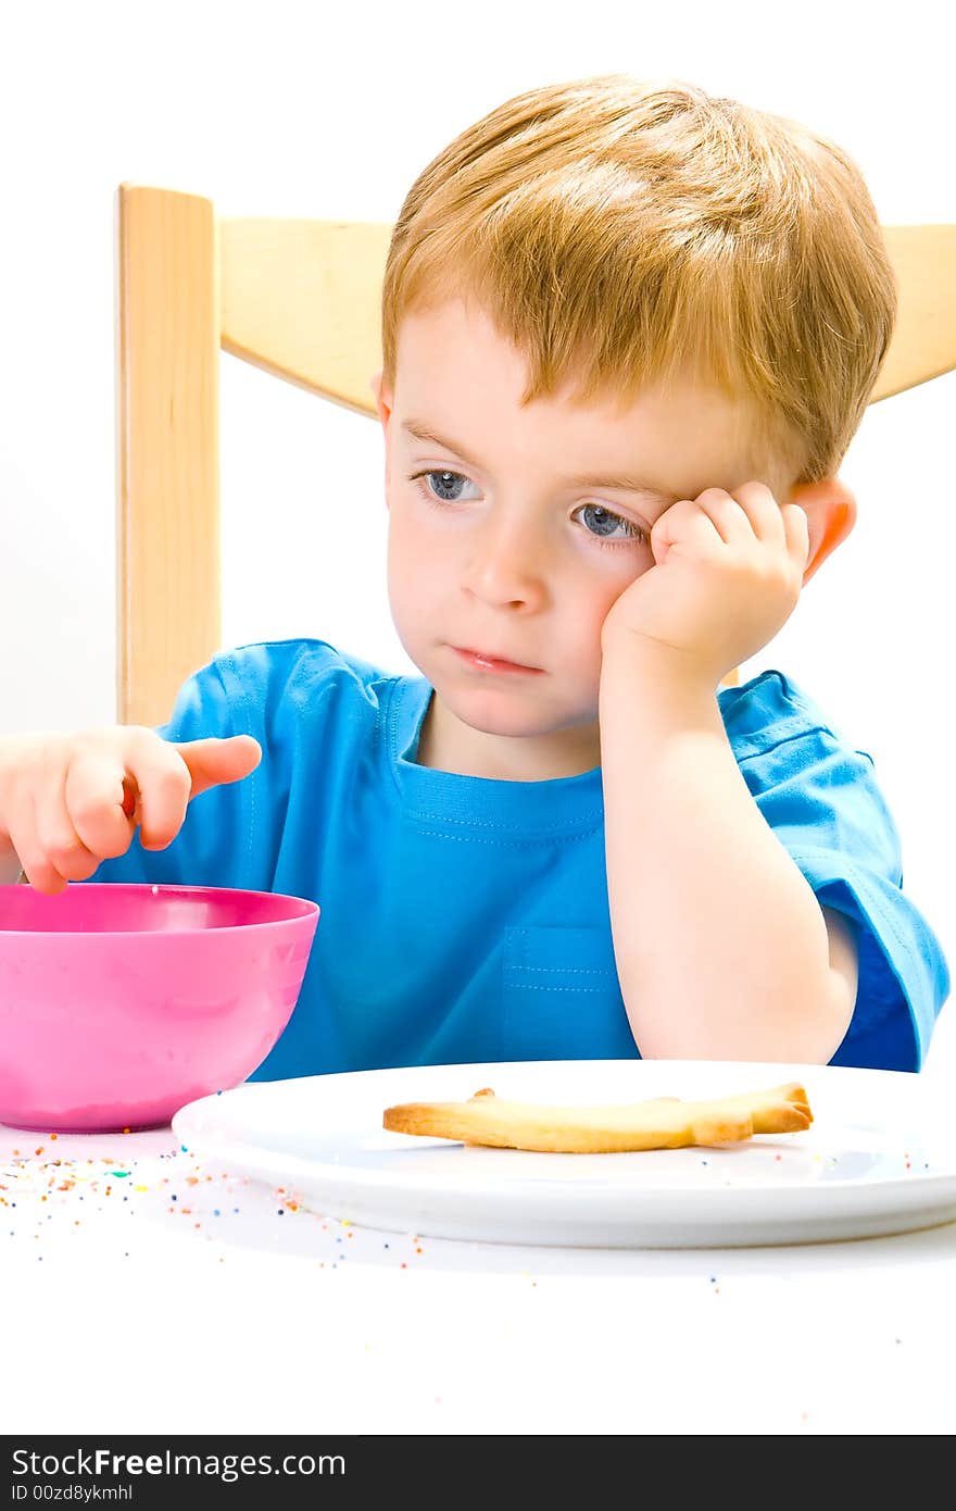
[[797, 604], [808, 515], [758, 480], [705, 488], [663, 511], [651, 550], [604, 620], [598, 709], [612, 932], [637, 1047], [829, 1061], [853, 1014], [853, 940], [764, 820], [717, 703], [720, 678]]

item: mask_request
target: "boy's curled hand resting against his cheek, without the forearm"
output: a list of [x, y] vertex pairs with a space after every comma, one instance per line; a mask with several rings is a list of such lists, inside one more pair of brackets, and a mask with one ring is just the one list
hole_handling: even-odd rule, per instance
[[671, 505], [651, 532], [655, 565], [604, 620], [601, 650], [636, 641], [677, 674], [716, 686], [793, 613], [810, 538], [806, 514], [761, 482], [705, 488]]

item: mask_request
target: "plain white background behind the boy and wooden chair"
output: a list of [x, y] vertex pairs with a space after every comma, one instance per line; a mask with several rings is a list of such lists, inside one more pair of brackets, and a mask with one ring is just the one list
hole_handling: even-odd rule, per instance
[[[115, 678], [113, 195], [393, 221], [421, 168], [521, 91], [671, 77], [802, 119], [884, 224], [954, 222], [945, 8], [341, 8], [107, 0], [0, 21], [0, 731], [109, 722]], [[745, 674], [779, 666], [876, 759], [906, 888], [956, 955], [950, 375], [874, 405], [849, 542]], [[222, 358], [224, 642], [317, 635], [412, 669], [385, 595], [378, 425]]]

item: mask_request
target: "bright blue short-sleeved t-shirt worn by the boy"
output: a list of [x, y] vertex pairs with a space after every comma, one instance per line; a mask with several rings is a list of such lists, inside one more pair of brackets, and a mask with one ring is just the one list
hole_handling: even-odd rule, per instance
[[[295, 1012], [252, 1080], [390, 1065], [639, 1058], [610, 931], [601, 769], [494, 781], [415, 765], [432, 688], [323, 641], [243, 645], [181, 689], [171, 740], [254, 734], [249, 777], [189, 805], [166, 851], [134, 839], [95, 881], [311, 898]], [[734, 756], [820, 904], [849, 916], [859, 990], [838, 1065], [918, 1070], [948, 993], [902, 893], [868, 756], [781, 672], [722, 689]]]

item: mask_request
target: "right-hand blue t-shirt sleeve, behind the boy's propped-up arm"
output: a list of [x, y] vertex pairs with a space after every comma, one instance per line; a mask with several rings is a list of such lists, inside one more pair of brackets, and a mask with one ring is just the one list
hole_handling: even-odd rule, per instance
[[950, 978], [903, 891], [900, 839], [873, 760], [779, 672], [740, 692], [723, 712], [748, 789], [820, 905], [844, 914], [858, 941], [856, 1006], [831, 1064], [918, 1070]]

